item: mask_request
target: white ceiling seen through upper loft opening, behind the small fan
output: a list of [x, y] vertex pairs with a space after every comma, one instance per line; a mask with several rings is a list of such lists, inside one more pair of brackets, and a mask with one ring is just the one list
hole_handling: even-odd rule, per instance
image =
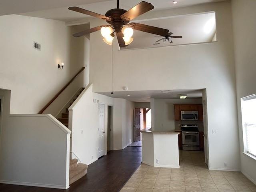
[[[209, 21], [211, 22], [211, 26], [209, 30], [205, 30], [205, 26], [208, 26]], [[183, 38], [173, 38], [172, 44], [168, 41], [160, 41], [158, 42], [159, 45], [153, 45], [162, 37], [134, 30], [134, 41], [129, 46], [121, 49], [212, 42], [214, 34], [216, 33], [215, 13], [176, 16], [168, 19], [148, 20], [139, 23], [169, 29], [170, 32], [173, 33], [172, 35], [182, 36]]]

